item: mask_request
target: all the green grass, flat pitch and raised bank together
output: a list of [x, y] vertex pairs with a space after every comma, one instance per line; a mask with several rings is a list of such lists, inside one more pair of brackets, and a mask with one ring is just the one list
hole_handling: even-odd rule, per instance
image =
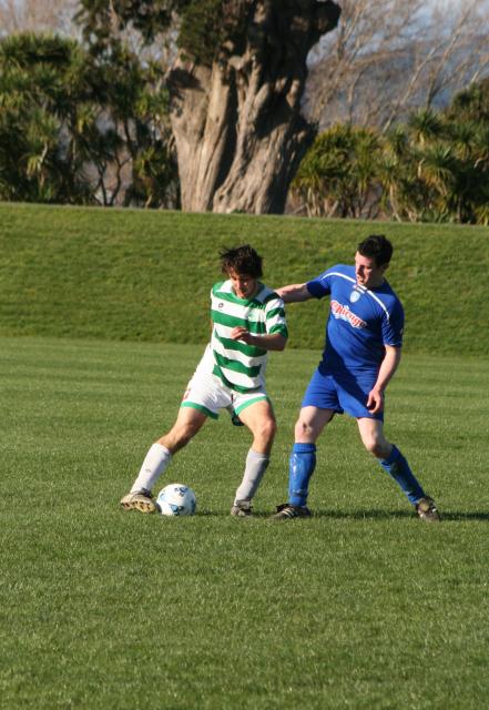
[[[412, 516], [346, 417], [319, 442], [315, 517], [268, 520], [324, 303], [288, 308], [303, 349], [272, 356], [256, 518], [228, 515], [249, 438], [223, 417], [164, 479], [195, 489], [194, 518], [120, 510], [207, 338], [220, 247], [249, 241], [282, 285], [371, 231], [395, 243], [407, 311], [387, 434], [442, 525]], [[488, 262], [483, 227], [0, 204], [0, 706], [485, 707]]]

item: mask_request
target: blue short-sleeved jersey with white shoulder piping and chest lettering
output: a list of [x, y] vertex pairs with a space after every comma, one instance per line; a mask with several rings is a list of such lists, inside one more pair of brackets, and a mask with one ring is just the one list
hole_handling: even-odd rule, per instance
[[357, 284], [355, 266], [337, 264], [307, 282], [307, 290], [330, 297], [322, 372], [374, 374], [385, 346], [403, 345], [404, 311], [387, 281], [366, 288]]

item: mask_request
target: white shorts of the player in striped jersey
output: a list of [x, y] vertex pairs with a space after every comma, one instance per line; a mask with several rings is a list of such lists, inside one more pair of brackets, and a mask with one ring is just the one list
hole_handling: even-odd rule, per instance
[[182, 407], [200, 409], [213, 419], [217, 419], [220, 409], [234, 410], [236, 414], [256, 402], [269, 400], [263, 387], [242, 394], [226, 387], [221, 379], [197, 367], [182, 398]]

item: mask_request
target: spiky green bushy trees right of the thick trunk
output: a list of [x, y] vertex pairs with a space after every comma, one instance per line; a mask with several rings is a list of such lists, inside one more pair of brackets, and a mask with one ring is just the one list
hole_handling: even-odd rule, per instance
[[387, 133], [320, 133], [292, 184], [296, 212], [489, 224], [489, 81], [446, 111], [419, 109]]

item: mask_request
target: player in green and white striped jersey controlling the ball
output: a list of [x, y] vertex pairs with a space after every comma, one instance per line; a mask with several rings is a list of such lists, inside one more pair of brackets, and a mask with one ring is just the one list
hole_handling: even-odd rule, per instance
[[208, 417], [227, 409], [234, 424], [253, 435], [243, 479], [231, 514], [252, 515], [252, 499], [269, 463], [276, 432], [275, 415], [265, 389], [269, 351], [283, 351], [287, 324], [282, 298], [261, 281], [262, 257], [248, 244], [221, 254], [226, 280], [211, 290], [212, 337], [190, 381], [173, 427], [149, 449], [130, 493], [125, 510], [152, 513], [151, 490], [172, 457]]

